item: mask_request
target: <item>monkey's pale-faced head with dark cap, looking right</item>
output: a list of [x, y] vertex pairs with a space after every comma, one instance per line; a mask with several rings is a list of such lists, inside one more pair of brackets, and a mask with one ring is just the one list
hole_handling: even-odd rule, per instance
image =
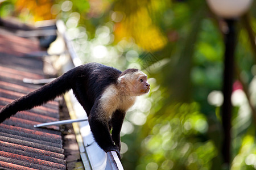
[[127, 69], [122, 72], [118, 82], [131, 96], [141, 96], [150, 91], [147, 75], [138, 69]]

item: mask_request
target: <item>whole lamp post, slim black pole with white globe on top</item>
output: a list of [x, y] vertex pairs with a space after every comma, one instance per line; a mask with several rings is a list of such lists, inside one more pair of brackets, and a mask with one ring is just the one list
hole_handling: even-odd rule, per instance
[[222, 128], [224, 132], [222, 156], [224, 164], [230, 167], [231, 118], [232, 118], [232, 85], [234, 74], [234, 49], [236, 44], [235, 20], [250, 7], [252, 0], [207, 0], [214, 14], [225, 19], [228, 31], [225, 32], [225, 58], [223, 74]]

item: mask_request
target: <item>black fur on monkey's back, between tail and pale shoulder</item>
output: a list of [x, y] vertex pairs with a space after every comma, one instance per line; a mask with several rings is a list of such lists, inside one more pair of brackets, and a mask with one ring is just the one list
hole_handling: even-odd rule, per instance
[[81, 75], [76, 79], [72, 87], [77, 100], [84, 107], [89, 116], [94, 102], [110, 84], [117, 83], [122, 71], [100, 63], [86, 63], [78, 71]]

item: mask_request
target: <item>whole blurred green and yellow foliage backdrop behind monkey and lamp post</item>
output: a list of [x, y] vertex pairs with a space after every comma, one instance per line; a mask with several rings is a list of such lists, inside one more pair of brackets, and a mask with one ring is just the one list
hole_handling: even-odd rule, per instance
[[[237, 19], [230, 169], [256, 169], [256, 2]], [[122, 128], [125, 169], [228, 169], [221, 105], [226, 23], [202, 0], [11, 0], [0, 17], [61, 19], [81, 60], [148, 74]]]

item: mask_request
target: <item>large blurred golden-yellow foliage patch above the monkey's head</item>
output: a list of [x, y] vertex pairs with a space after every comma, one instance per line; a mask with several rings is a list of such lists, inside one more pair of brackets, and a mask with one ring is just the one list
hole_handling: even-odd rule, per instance
[[123, 37], [133, 37], [141, 48], [150, 52], [162, 49], [167, 44], [167, 37], [152, 23], [146, 7], [139, 8], [122, 22], [116, 23], [115, 41], [119, 42]]

